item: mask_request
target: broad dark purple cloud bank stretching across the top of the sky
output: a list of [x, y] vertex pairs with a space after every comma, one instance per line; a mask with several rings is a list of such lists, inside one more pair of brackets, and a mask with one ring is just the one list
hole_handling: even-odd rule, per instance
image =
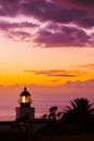
[[94, 26], [94, 16], [92, 15], [92, 17], [86, 10], [78, 9], [78, 7], [70, 7], [73, 3], [80, 5], [81, 1], [61, 1], [67, 7], [62, 7], [57, 4], [58, 2], [46, 0], [13, 0], [11, 2], [10, 0], [1, 0], [0, 14], [1, 16], [18, 16], [22, 14], [29, 17], [32, 16], [42, 22], [52, 21], [62, 24], [73, 23], [79, 25], [79, 23], [82, 23], [83, 27], [85, 27], [86, 21], [90, 20], [91, 22], [88, 23], [86, 27]]

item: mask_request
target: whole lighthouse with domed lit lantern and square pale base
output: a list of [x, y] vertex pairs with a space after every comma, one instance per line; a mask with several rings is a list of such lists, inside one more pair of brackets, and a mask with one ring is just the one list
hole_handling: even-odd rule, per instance
[[16, 119], [18, 118], [35, 118], [35, 107], [31, 107], [32, 100], [30, 98], [30, 93], [27, 91], [27, 88], [24, 88], [24, 91], [19, 95], [19, 107], [16, 107]]

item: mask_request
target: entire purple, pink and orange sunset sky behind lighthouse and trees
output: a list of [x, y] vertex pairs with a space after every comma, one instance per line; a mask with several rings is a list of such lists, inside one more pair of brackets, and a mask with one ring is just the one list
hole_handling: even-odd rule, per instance
[[0, 0], [1, 111], [18, 105], [25, 86], [37, 108], [94, 102], [92, 0]]

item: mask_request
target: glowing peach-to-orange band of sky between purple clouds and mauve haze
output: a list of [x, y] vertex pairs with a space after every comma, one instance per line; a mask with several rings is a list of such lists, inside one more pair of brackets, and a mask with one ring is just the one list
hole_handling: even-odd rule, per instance
[[93, 48], [32, 48], [29, 43], [15, 41], [3, 43], [0, 85], [57, 86], [69, 80], [94, 78]]

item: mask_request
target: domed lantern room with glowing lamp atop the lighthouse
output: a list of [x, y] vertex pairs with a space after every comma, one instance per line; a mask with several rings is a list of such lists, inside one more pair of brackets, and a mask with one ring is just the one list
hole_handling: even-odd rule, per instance
[[31, 99], [30, 93], [27, 91], [27, 88], [24, 88], [24, 91], [19, 95], [21, 107], [30, 107]]

